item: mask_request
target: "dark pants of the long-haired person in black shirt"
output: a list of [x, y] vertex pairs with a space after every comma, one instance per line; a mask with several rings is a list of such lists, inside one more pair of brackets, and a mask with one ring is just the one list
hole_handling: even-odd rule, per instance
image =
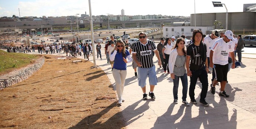
[[208, 75], [205, 70], [205, 67], [198, 70], [190, 70], [192, 72], [192, 76], [190, 77], [190, 86], [189, 86], [189, 97], [191, 100], [195, 99], [195, 88], [197, 79], [199, 78], [201, 84], [202, 84], [202, 90], [200, 94], [200, 101], [205, 101], [206, 94], [208, 91]]

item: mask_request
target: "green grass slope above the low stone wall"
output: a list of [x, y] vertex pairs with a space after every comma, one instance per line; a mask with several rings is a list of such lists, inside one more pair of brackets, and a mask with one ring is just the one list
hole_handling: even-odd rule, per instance
[[0, 50], [0, 75], [33, 63], [38, 56]]

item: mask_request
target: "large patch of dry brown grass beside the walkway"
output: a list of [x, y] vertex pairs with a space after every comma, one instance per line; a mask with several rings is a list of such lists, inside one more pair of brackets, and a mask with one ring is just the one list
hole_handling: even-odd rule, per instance
[[0, 90], [0, 128], [120, 129], [115, 91], [101, 69], [47, 55], [33, 76]]

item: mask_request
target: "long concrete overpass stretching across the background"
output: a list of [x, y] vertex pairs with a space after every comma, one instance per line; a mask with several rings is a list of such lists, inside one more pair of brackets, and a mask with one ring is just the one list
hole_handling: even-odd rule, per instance
[[[140, 20], [130, 20], [130, 21], [111, 21], [109, 22], [109, 27], [116, 28], [122, 27], [122, 28], [143, 28], [143, 27], [154, 27], [158, 26], [160, 27], [162, 24], [165, 25], [173, 25], [173, 22], [177, 21], [190, 21], [190, 18], [156, 18], [156, 19], [140, 19]], [[99, 25], [102, 24], [102, 26], [108, 28], [108, 22], [93, 22], [93, 25]], [[78, 24], [84, 25], [86, 28], [90, 28], [90, 23], [83, 23]], [[75, 30], [77, 27], [77, 24], [71, 24], [72, 30]], [[58, 28], [58, 27], [70, 27], [70, 24], [65, 21], [4, 21], [0, 22], [1, 28], [17, 28], [17, 29], [23, 29], [26, 30], [27, 34], [31, 34], [31, 32], [35, 30], [42, 31], [42, 29], [51, 30], [52, 28]], [[77, 28], [76, 28], [77, 29]]]

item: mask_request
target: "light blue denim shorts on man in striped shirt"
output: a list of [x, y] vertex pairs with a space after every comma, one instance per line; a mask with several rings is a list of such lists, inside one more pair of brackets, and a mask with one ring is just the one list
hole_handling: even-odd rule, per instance
[[155, 66], [150, 68], [138, 67], [138, 84], [141, 88], [146, 86], [147, 77], [150, 85], [157, 85], [157, 72], [155, 71]]

